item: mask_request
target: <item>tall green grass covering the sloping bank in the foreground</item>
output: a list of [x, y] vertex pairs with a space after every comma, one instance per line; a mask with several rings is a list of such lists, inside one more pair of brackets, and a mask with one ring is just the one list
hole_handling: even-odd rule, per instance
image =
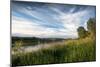
[[12, 55], [12, 65], [37, 65], [86, 62], [96, 60], [95, 37], [68, 40], [64, 45], [41, 49], [36, 52]]

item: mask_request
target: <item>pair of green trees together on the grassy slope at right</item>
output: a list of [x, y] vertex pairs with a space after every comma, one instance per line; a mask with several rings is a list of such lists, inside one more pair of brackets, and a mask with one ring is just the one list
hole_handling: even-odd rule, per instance
[[86, 31], [86, 29], [82, 26], [80, 26], [77, 29], [79, 38], [85, 38], [91, 34], [95, 36], [96, 34], [96, 19], [95, 18], [90, 18], [87, 21], [87, 29], [88, 30]]

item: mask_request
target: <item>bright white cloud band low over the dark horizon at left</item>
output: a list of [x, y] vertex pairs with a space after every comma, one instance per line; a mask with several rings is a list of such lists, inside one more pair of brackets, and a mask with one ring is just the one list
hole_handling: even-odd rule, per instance
[[[20, 18], [21, 19], [21, 18]], [[35, 36], [42, 38], [66, 38], [66, 33], [61, 30], [61, 32], [55, 31], [52, 28], [45, 28], [39, 24], [28, 20], [12, 20], [12, 35], [19, 33], [20, 35]], [[16, 36], [19, 36], [16, 35]]]

